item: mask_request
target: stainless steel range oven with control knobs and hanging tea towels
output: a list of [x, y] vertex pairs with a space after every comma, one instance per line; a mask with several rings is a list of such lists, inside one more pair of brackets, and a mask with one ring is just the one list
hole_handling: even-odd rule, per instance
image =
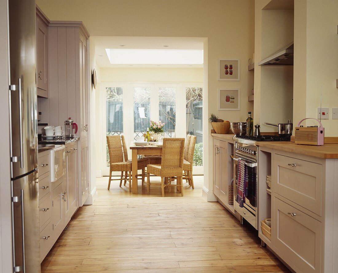
[[[258, 229], [258, 152], [255, 141], [234, 138], [234, 206], [243, 218]], [[243, 207], [236, 201], [238, 195], [238, 162], [244, 162], [246, 187]]]

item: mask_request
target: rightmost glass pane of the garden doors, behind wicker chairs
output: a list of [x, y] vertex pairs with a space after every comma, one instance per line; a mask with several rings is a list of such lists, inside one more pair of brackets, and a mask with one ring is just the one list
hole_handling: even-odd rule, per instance
[[193, 166], [203, 166], [202, 105], [202, 88], [186, 88], [187, 134], [196, 135]]

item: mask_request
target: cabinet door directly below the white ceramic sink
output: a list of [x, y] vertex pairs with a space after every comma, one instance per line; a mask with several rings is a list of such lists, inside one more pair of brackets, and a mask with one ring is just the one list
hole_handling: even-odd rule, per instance
[[[60, 178], [60, 179], [63, 179]], [[53, 227], [53, 241], [59, 237], [64, 226], [64, 200], [62, 194], [64, 190], [64, 183], [60, 183], [52, 191], [52, 227]]]

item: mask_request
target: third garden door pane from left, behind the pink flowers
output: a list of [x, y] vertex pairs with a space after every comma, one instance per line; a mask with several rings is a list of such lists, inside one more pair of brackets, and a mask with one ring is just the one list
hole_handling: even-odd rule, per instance
[[176, 88], [159, 88], [159, 119], [165, 125], [163, 130], [170, 137], [175, 136], [176, 107], [175, 107]]

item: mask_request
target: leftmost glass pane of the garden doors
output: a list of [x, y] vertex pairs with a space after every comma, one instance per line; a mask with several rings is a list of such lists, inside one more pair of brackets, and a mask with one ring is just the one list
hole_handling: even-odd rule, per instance
[[[123, 88], [106, 88], [106, 128], [107, 135], [123, 133]], [[107, 167], [109, 167], [108, 145], [106, 145]]]

